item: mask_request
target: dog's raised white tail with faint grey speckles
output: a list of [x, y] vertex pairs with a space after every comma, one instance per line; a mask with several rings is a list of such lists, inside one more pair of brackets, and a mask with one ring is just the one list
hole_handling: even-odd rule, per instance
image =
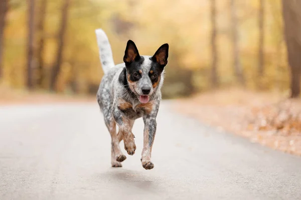
[[108, 37], [101, 28], [96, 29], [95, 33], [99, 49], [99, 58], [105, 73], [109, 68], [115, 66], [112, 49]]

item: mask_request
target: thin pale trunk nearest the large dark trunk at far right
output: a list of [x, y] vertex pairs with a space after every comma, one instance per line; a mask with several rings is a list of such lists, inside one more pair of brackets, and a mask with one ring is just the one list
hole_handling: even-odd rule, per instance
[[258, 13], [258, 27], [259, 27], [259, 41], [258, 41], [258, 75], [264, 74], [264, 0], [259, 0]]

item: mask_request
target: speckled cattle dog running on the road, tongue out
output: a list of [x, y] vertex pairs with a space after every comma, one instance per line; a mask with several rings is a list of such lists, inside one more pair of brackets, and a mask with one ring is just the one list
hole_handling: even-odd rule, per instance
[[143, 168], [152, 169], [154, 163], [150, 157], [156, 135], [156, 117], [162, 99], [161, 87], [168, 62], [169, 44], [163, 44], [153, 56], [147, 56], [140, 55], [135, 43], [128, 40], [124, 63], [115, 65], [105, 32], [99, 28], [95, 33], [104, 71], [96, 97], [111, 135], [111, 165], [121, 167], [121, 162], [126, 159], [119, 146], [122, 139], [126, 152], [129, 155], [135, 153], [135, 136], [131, 130], [135, 119], [142, 117], [144, 130], [140, 160]]

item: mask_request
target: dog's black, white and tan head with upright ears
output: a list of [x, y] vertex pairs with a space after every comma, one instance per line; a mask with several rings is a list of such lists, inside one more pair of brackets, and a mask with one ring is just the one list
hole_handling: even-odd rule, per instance
[[140, 102], [147, 103], [149, 96], [156, 91], [162, 71], [167, 64], [168, 43], [163, 44], [153, 56], [139, 55], [138, 49], [132, 40], [128, 40], [123, 61], [126, 67], [126, 79], [129, 88]]

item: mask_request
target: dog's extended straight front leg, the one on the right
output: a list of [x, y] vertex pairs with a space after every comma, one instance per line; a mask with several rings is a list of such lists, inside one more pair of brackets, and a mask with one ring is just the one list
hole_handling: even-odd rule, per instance
[[145, 169], [154, 168], [154, 164], [150, 161], [152, 155], [152, 147], [155, 139], [157, 122], [156, 118], [152, 116], [144, 116], [144, 132], [143, 132], [143, 149], [141, 154], [142, 166]]

